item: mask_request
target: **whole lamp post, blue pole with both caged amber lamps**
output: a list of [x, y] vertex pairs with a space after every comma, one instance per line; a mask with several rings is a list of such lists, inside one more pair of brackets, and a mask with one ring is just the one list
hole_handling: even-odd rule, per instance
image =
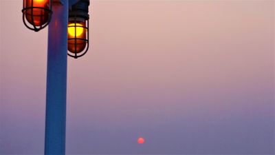
[[45, 155], [65, 154], [67, 55], [78, 58], [89, 48], [88, 7], [89, 0], [23, 0], [27, 28], [38, 32], [49, 25]]

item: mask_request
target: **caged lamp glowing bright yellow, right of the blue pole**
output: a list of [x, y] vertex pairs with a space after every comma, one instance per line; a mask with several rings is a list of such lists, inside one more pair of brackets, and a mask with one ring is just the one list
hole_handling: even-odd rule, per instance
[[69, 9], [68, 55], [77, 59], [89, 48], [89, 0], [80, 0]]

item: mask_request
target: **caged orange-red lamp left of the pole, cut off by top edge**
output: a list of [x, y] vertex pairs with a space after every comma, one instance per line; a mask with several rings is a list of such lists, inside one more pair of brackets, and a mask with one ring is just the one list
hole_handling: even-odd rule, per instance
[[22, 12], [25, 26], [38, 32], [50, 23], [52, 0], [23, 0]]

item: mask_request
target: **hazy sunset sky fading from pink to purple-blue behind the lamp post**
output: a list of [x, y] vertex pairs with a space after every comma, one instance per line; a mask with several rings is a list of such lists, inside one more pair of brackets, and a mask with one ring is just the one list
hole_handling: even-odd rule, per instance
[[[0, 1], [0, 154], [43, 154], [47, 29]], [[93, 1], [67, 154], [274, 154], [274, 1]], [[146, 142], [137, 144], [143, 136]]]

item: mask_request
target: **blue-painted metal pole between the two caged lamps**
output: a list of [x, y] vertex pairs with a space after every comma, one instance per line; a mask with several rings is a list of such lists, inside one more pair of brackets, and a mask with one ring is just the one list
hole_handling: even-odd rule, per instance
[[68, 0], [53, 3], [48, 29], [45, 154], [65, 154]]

